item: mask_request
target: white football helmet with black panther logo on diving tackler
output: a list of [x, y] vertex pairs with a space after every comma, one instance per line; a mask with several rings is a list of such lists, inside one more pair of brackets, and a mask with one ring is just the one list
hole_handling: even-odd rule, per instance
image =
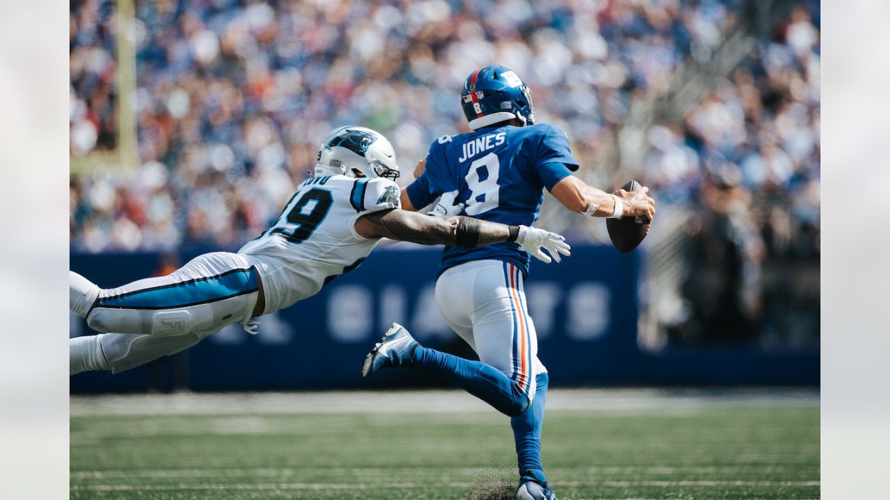
[[395, 180], [400, 175], [392, 144], [383, 134], [363, 126], [342, 126], [328, 132], [315, 160], [315, 176], [342, 174]]

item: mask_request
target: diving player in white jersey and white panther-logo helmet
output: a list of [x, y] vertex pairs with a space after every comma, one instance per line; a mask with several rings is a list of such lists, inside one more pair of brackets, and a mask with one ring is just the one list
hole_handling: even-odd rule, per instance
[[515, 241], [545, 262], [541, 248], [569, 254], [561, 236], [544, 230], [403, 211], [397, 177], [395, 153], [383, 135], [340, 127], [322, 140], [314, 176], [238, 253], [199, 255], [168, 276], [108, 289], [69, 271], [71, 311], [102, 332], [70, 339], [70, 374], [118, 373], [235, 322], [256, 333], [257, 317], [318, 293], [358, 267], [384, 237], [452, 246]]

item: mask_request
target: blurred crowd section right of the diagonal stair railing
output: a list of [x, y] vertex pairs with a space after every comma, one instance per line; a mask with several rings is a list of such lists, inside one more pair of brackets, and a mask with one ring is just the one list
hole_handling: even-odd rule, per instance
[[820, 254], [819, 30], [809, 12], [795, 7], [686, 111], [682, 131], [650, 130], [643, 183], [662, 207], [698, 214], [684, 286], [692, 315], [671, 329], [675, 342], [775, 340], [779, 330], [797, 332], [786, 344], [819, 342], [818, 289], [795, 286], [801, 273], [818, 275]]

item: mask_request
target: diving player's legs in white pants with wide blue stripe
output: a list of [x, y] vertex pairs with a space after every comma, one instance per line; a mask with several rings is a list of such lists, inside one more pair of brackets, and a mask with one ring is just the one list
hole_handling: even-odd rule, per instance
[[[99, 290], [86, 319], [90, 327], [106, 333], [69, 340], [70, 374], [117, 374], [247, 321], [259, 295], [254, 264], [242, 254], [214, 252], [199, 255], [168, 276]], [[73, 275], [72, 304], [84, 302], [77, 296], [87, 288], [84, 281]]]

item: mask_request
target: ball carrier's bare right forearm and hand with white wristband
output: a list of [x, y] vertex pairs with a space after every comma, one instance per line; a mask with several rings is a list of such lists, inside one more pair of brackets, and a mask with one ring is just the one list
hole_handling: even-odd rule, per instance
[[[550, 190], [554, 198], [573, 212], [593, 217], [645, 215], [651, 220], [655, 215], [655, 200], [648, 193], [649, 188], [643, 188], [633, 192], [618, 190], [609, 194], [587, 185], [574, 175], [565, 177]], [[617, 206], [619, 211], [616, 211]]]

